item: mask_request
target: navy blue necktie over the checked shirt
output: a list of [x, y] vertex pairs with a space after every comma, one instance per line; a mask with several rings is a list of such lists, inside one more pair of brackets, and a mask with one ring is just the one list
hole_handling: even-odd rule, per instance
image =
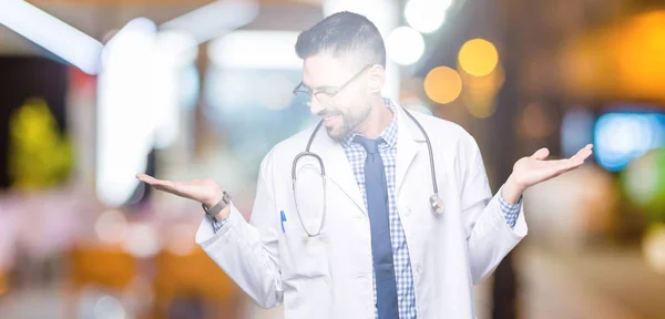
[[379, 154], [379, 141], [356, 135], [357, 143], [367, 151], [365, 160], [365, 189], [371, 231], [371, 255], [377, 282], [377, 309], [379, 319], [399, 318], [397, 310], [397, 284], [390, 244], [388, 218], [388, 183], [383, 161]]

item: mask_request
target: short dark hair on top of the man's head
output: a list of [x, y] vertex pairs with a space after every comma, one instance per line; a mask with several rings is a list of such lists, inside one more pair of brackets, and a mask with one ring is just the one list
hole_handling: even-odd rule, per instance
[[358, 68], [380, 64], [386, 68], [386, 45], [379, 29], [365, 16], [341, 11], [303, 31], [296, 42], [296, 54], [303, 60], [329, 52], [335, 56], [348, 58]]

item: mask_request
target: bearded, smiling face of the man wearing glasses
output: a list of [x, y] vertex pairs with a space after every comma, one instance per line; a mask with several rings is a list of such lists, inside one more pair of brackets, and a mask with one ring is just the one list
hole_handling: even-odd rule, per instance
[[[335, 93], [359, 71], [329, 53], [319, 53], [305, 59], [303, 84], [314, 93]], [[366, 70], [359, 74], [339, 93], [335, 94], [331, 101], [321, 102], [315, 96], [311, 97], [310, 112], [324, 119], [328, 136], [337, 142], [356, 130], [369, 116], [371, 91], [368, 90], [368, 79], [370, 78], [368, 73]]]

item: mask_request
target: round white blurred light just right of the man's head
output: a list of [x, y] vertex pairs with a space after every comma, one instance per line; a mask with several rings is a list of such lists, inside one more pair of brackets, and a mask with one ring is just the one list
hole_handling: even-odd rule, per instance
[[388, 58], [397, 64], [409, 65], [416, 63], [424, 51], [424, 40], [420, 32], [409, 28], [393, 29], [386, 40]]

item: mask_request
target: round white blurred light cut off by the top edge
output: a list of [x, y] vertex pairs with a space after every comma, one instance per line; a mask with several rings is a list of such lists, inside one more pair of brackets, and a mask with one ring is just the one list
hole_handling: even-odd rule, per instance
[[443, 24], [451, 4], [452, 0], [410, 0], [405, 7], [405, 18], [411, 28], [430, 33]]

